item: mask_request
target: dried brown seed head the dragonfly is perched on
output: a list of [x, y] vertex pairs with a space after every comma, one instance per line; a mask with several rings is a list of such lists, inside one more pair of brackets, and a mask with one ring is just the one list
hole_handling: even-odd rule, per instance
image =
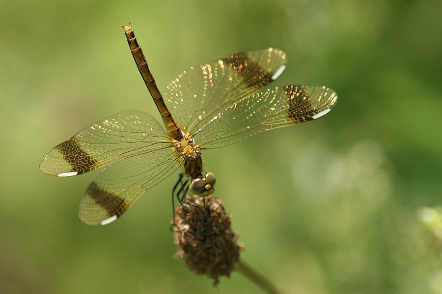
[[212, 196], [187, 196], [187, 203], [176, 209], [172, 222], [177, 254], [187, 268], [205, 274], [218, 284], [219, 276], [229, 276], [243, 245], [238, 245], [238, 233], [232, 232], [230, 217], [222, 202]]

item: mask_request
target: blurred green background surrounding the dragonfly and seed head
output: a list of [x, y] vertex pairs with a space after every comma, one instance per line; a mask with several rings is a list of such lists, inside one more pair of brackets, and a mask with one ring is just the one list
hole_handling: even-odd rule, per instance
[[273, 46], [288, 55], [277, 84], [338, 93], [317, 122], [204, 153], [242, 260], [284, 293], [441, 294], [441, 15], [440, 0], [2, 0], [0, 292], [261, 293], [237, 272], [217, 290], [173, 258], [176, 176], [89, 227], [77, 209], [94, 174], [38, 169], [105, 116], [155, 114], [121, 27], [131, 22], [160, 89]]

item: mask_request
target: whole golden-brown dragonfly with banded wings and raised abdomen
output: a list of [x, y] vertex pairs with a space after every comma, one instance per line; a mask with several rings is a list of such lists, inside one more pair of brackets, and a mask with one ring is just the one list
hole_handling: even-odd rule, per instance
[[178, 169], [184, 177], [181, 193], [212, 194], [216, 177], [203, 168], [203, 150], [319, 119], [337, 102], [335, 91], [325, 86], [269, 87], [287, 64], [286, 53], [276, 48], [191, 67], [162, 95], [134, 30], [130, 24], [123, 29], [164, 125], [147, 112], [122, 111], [82, 129], [45, 156], [41, 171], [58, 177], [102, 169], [80, 202], [79, 217], [86, 224], [116, 221], [144, 192]]

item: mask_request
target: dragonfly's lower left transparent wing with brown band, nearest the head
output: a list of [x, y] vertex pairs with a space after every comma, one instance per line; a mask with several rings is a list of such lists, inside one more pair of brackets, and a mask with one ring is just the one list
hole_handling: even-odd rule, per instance
[[80, 219], [89, 225], [117, 220], [149, 188], [175, 172], [182, 163], [171, 147], [140, 150], [98, 173], [83, 194]]

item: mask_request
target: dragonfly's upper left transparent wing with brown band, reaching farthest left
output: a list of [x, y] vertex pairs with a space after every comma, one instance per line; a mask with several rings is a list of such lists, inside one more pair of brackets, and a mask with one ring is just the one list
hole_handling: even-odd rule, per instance
[[[102, 168], [142, 150], [170, 146], [164, 128], [148, 113], [126, 110], [104, 118], [55, 146], [40, 169], [51, 175], [72, 176]], [[163, 152], [170, 152], [165, 150]]]

